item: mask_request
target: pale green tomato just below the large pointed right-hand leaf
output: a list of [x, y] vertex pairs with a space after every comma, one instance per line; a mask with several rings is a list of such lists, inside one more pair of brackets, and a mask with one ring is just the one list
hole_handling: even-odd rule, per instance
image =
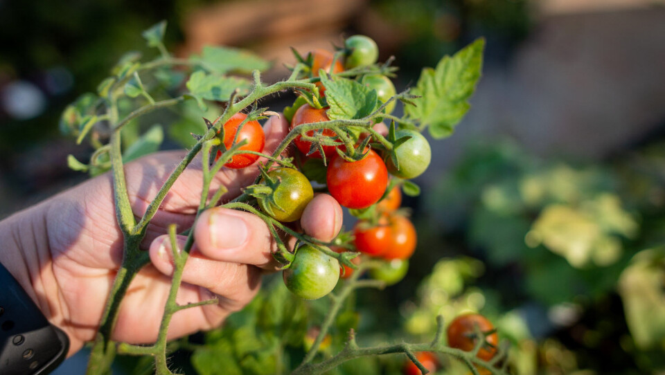
[[395, 136], [397, 139], [403, 136], [411, 136], [411, 138], [395, 149], [397, 161], [400, 165], [399, 170], [393, 164], [392, 158], [387, 156], [386, 167], [388, 167], [388, 171], [400, 179], [413, 179], [423, 174], [429, 166], [429, 161], [432, 160], [432, 149], [429, 148], [427, 139], [418, 131], [406, 129], [396, 131]]

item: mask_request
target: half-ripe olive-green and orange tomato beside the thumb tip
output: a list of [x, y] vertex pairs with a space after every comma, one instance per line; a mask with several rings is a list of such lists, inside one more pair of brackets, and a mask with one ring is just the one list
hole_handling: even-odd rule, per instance
[[[285, 223], [300, 219], [303, 210], [314, 197], [310, 181], [301, 172], [285, 167], [268, 172], [268, 176], [280, 183], [272, 194], [272, 201], [269, 198], [258, 199], [261, 210], [272, 210], [272, 217]], [[266, 209], [268, 205], [270, 210]]]

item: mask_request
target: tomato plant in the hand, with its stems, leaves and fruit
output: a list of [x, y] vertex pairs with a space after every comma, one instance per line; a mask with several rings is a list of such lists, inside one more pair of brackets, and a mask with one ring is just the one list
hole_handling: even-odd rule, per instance
[[[62, 117], [62, 129], [67, 134], [76, 136], [78, 143], [89, 137], [90, 146], [95, 149], [88, 164], [71, 156], [68, 159], [69, 165], [73, 169], [91, 174], [110, 171], [109, 179], [112, 180], [110, 185], [114, 190], [112, 196], [116, 212], [113, 219], [118, 224], [118, 234], [125, 244], [122, 265], [124, 271], [116, 273], [112, 288], [109, 288], [108, 303], [105, 304], [105, 310], [98, 324], [100, 327], [98, 336], [94, 339], [94, 348], [91, 350], [89, 374], [106, 374], [113, 356], [118, 352], [150, 356], [154, 359], [154, 371], [157, 374], [172, 375], [168, 368], [166, 348], [169, 347], [167, 341], [170, 337], [168, 326], [170, 322], [175, 321], [172, 320], [173, 315], [181, 310], [203, 309], [204, 305], [214, 305], [213, 307], [217, 308], [224, 304], [220, 304], [218, 298], [224, 298], [225, 295], [214, 295], [215, 293], [211, 293], [213, 297], [210, 300], [184, 304], [177, 300], [177, 297], [182, 295], [178, 293], [183, 286], [182, 283], [190, 282], [188, 280], [190, 275], [186, 275], [184, 267], [190, 251], [193, 250], [195, 237], [193, 228], [188, 227], [186, 223], [172, 223], [166, 231], [172, 241], [172, 276], [168, 296], [165, 296], [166, 302], [162, 305], [162, 320], [154, 344], [134, 345], [120, 342], [116, 345], [116, 342], [111, 341], [114, 324], [120, 318], [120, 302], [127, 294], [132, 277], [136, 277], [142, 267], [148, 264], [145, 257], [136, 256], [141, 253], [139, 244], [144, 243], [148, 226], [156, 224], [155, 215], [165, 207], [164, 203], [171, 188], [175, 183], [181, 183], [178, 179], [183, 178], [184, 171], [191, 171], [193, 167], [197, 168], [196, 173], [189, 175], [200, 176], [200, 180], [195, 181], [199, 185], [194, 186], [203, 188], [200, 196], [193, 200], [191, 207], [188, 206], [188, 209], [195, 213], [190, 222], [196, 223], [199, 214], [218, 207], [254, 214], [255, 219], [258, 218], [265, 223], [267, 231], [264, 232], [269, 233], [269, 238], [266, 238], [266, 241], [263, 239], [259, 241], [261, 244], [266, 244], [265, 248], [250, 250], [263, 253], [272, 251], [274, 261], [284, 270], [282, 277], [285, 287], [278, 280], [281, 290], [283, 293], [288, 293], [286, 291], [288, 289], [300, 297], [279, 295], [280, 292], [277, 292], [275, 295], [268, 295], [267, 298], [264, 298], [265, 296], [256, 298], [257, 302], [251, 302], [244, 312], [254, 314], [254, 318], [227, 320], [230, 325], [242, 326], [247, 323], [251, 324], [251, 328], [233, 331], [225, 327], [224, 331], [231, 333], [222, 337], [224, 336], [222, 331], [222, 335], [215, 338], [224, 341], [223, 345], [218, 345], [224, 347], [223, 354], [208, 350], [212, 345], [193, 349], [195, 351], [193, 358], [203, 358], [199, 362], [193, 359], [195, 367], [202, 366], [200, 368], [202, 373], [206, 373], [206, 365], [210, 363], [215, 363], [216, 366], [223, 363], [224, 369], [228, 368], [229, 372], [237, 374], [253, 373], [258, 368], [266, 374], [286, 373], [290, 369], [294, 374], [323, 374], [333, 370], [335, 363], [343, 363], [354, 356], [386, 353], [387, 345], [382, 344], [360, 348], [363, 350], [360, 354], [360, 349], [351, 341], [353, 340], [351, 329], [358, 327], [359, 319], [359, 314], [353, 311], [355, 290], [378, 288], [401, 280], [408, 270], [408, 258], [416, 247], [416, 231], [413, 224], [395, 212], [401, 201], [400, 189], [395, 187], [389, 192], [386, 191], [389, 168], [392, 174], [401, 179], [411, 179], [422, 174], [427, 168], [431, 158], [429, 143], [418, 132], [407, 129], [427, 130], [433, 138], [450, 135], [452, 128], [461, 120], [465, 109], [468, 108], [468, 98], [480, 76], [484, 42], [479, 40], [460, 53], [443, 58], [436, 68], [425, 69], [415, 86], [397, 94], [388, 78], [398, 71], [396, 66], [391, 65], [393, 60], [376, 64], [378, 56], [376, 44], [360, 35], [348, 38], [344, 48], [335, 54], [316, 50], [310, 53], [307, 59], [303, 59], [301, 55], [295, 53], [298, 63], [290, 67], [292, 69], [290, 76], [274, 84], [267, 84], [262, 81], [261, 72], [268, 68], [268, 62], [245, 51], [215, 46], [203, 48], [198, 55], [185, 58], [172, 57], [163, 44], [165, 30], [166, 23], [160, 23], [143, 33], [143, 37], [148, 40], [148, 46], [159, 50], [159, 57], [143, 60], [143, 55], [137, 53], [123, 56], [113, 68], [112, 76], [107, 77], [98, 86], [96, 93], [85, 95], [84, 98], [71, 104]], [[346, 73], [343, 62], [346, 62], [346, 68], [349, 69]], [[321, 71], [331, 74], [321, 74], [319, 77]], [[164, 89], [164, 86], [168, 86], [168, 89]], [[459, 89], [460, 87], [463, 89]], [[267, 98], [285, 91], [298, 95], [293, 107], [261, 108], [267, 103]], [[322, 96], [323, 91], [326, 91], [326, 97]], [[446, 102], [447, 105], [440, 105], [451, 97], [455, 98], [454, 103]], [[377, 104], [385, 103], [391, 98], [399, 99], [405, 104], [404, 113], [400, 113], [399, 116], [387, 114], [393, 111], [393, 102], [384, 108], [384, 111], [378, 110]], [[222, 106], [220, 103], [223, 103]], [[145, 114], [170, 106], [176, 109], [173, 111], [175, 113], [173, 117], [177, 125], [168, 131], [156, 126], [145, 134], [134, 135], [132, 131], [135, 132], [135, 129], [122, 132], [123, 129], [127, 129], [125, 127], [127, 124], [138, 122]], [[179, 106], [187, 109], [183, 110]], [[265, 135], [256, 120], [275, 116], [276, 112], [282, 110], [285, 117], [291, 121], [290, 131], [288, 134], [283, 134], [283, 138], [276, 142], [278, 144], [274, 145], [271, 153], [264, 153]], [[178, 113], [179, 111], [187, 113]], [[205, 127], [197, 127], [198, 134], [190, 133], [192, 128], [181, 126], [184, 122], [195, 121], [192, 118], [200, 120], [204, 116], [206, 118], [199, 125]], [[250, 118], [253, 120], [247, 121]], [[371, 128], [373, 124], [384, 118], [394, 120], [391, 123], [399, 124], [403, 129], [394, 131], [394, 127], [391, 126], [391, 131], [386, 137], [380, 131]], [[243, 121], [245, 123], [240, 129]], [[103, 126], [96, 126], [100, 122], [103, 122]], [[328, 123], [321, 125], [320, 129], [312, 131], [308, 129], [306, 133], [301, 134], [301, 130], [305, 129], [303, 127], [313, 122]], [[100, 132], [100, 129], [104, 132]], [[129, 203], [131, 192], [127, 189], [128, 184], [123, 173], [123, 163], [130, 159], [127, 154], [136, 158], [141, 156], [136, 149], [141, 149], [144, 154], [147, 152], [143, 149], [156, 151], [160, 147], [161, 140], [157, 140], [161, 138], [159, 136], [181, 133], [186, 138], [186, 140], [179, 139], [187, 147], [186, 156], [177, 165], [169, 165], [172, 167], [170, 168], [172, 172], [157, 181], [161, 186], [157, 189], [156, 196], [148, 203], [148, 208], [141, 217], [136, 217], [136, 212], [132, 212]], [[406, 140], [404, 136], [411, 138]], [[344, 145], [330, 145], [331, 141], [337, 142], [336, 138], [343, 141]], [[234, 140], [244, 145], [242, 147], [238, 143], [233, 145]], [[328, 165], [313, 159], [301, 163], [297, 158], [290, 157], [289, 152], [293, 148], [293, 143], [305, 154], [312, 151], [310, 155], [312, 158], [329, 159]], [[312, 145], [317, 147], [312, 150]], [[384, 150], [385, 154], [380, 156], [372, 147]], [[249, 151], [252, 154], [247, 154]], [[295, 155], [297, 156], [299, 154]], [[217, 158], [217, 163], [214, 161], [211, 163], [210, 159], [213, 157]], [[393, 157], [397, 161], [395, 165], [392, 164]], [[258, 158], [264, 163], [257, 165]], [[222, 164], [220, 160], [230, 168], [242, 168], [254, 164], [259, 174], [254, 176], [253, 173], [256, 172], [254, 168], [234, 174], [227, 170], [223, 176], [230, 180], [220, 179], [221, 175], [218, 174]], [[388, 166], [386, 160], [389, 161]], [[193, 161], [201, 163], [196, 162], [192, 165]], [[233, 176], [235, 179], [231, 179]], [[301, 230], [297, 223], [291, 223], [301, 218], [305, 206], [312, 200], [313, 189], [308, 177], [317, 182], [317, 190], [327, 189], [341, 205], [353, 209], [349, 210], [349, 213], [360, 219], [360, 223], [353, 230], [355, 239], [351, 237], [351, 231], [342, 231], [330, 234], [328, 241], [323, 241], [313, 237], [308, 230]], [[225, 183], [220, 185], [221, 181]], [[186, 183], [191, 182], [186, 181]], [[401, 185], [405, 194], [418, 194], [419, 189], [415, 183], [410, 181], [396, 181], [396, 183]], [[229, 196], [232, 193], [238, 194]], [[383, 201], [378, 203], [384, 195]], [[371, 207], [375, 203], [378, 205]], [[335, 228], [339, 228], [342, 224], [342, 214], [338, 214], [337, 205], [333, 206], [334, 218], [326, 216], [328, 210], [323, 210], [324, 214], [317, 217], [332, 219]], [[168, 215], [166, 219], [168, 220]], [[163, 228], [166, 224], [168, 223], [160, 221], [156, 227]], [[261, 228], [265, 229], [263, 226]], [[178, 234], [186, 236], [186, 241], [182, 243], [177, 241]], [[296, 247], [294, 252], [290, 251], [292, 246]], [[340, 270], [346, 269], [345, 275], [352, 275], [353, 271], [349, 267], [360, 262], [357, 258], [350, 259], [353, 255], [347, 251], [337, 253], [339, 251], [337, 249], [328, 250], [333, 246], [349, 248], [353, 251], [353, 255], [355, 255], [354, 250], [365, 253], [360, 268], [367, 269], [371, 278], [361, 278], [359, 276], [362, 275], [356, 273], [341, 283], [339, 293], [331, 295], [329, 300], [321, 304], [305, 304], [301, 298], [313, 300], [330, 293], [339, 281]], [[371, 256], [384, 257], [387, 260], [371, 259]], [[229, 280], [215, 280], [213, 284], [217, 285], [218, 281]], [[204, 291], [202, 285], [195, 283], [190, 285]], [[161, 289], [164, 290], [166, 289]], [[310, 309], [310, 306], [314, 308]], [[310, 311], [314, 312], [311, 316], [308, 315]], [[200, 317], [199, 312], [190, 311], [192, 315]], [[317, 325], [312, 317], [322, 314], [325, 314], [321, 317], [323, 323]], [[156, 322], [147, 324], [157, 325], [153, 323]], [[198, 328], [194, 325], [188, 328]], [[438, 333], [441, 333], [443, 324], [438, 325]], [[311, 347], [303, 356], [301, 353], [302, 339], [305, 336], [303, 332], [306, 332], [308, 327], [317, 327], [319, 330], [310, 331]], [[337, 329], [331, 330], [331, 327]], [[260, 331], [265, 329], [273, 331], [267, 336], [260, 336], [262, 334]], [[345, 339], [338, 335], [339, 332], [351, 334]], [[238, 337], [242, 337], [243, 340], [249, 338], [251, 353], [236, 350], [240, 349], [238, 345], [243, 345], [236, 341]], [[326, 337], [330, 338], [330, 347], [325, 353], [329, 358], [323, 359], [319, 351], [321, 345], [325, 345]], [[436, 337], [442, 336], [438, 334]], [[348, 349], [334, 354], [332, 351], [344, 345], [344, 340], [348, 340], [347, 344], [353, 345], [346, 345]], [[266, 342], [270, 346], [268, 349], [254, 347], [255, 345], [260, 347]], [[289, 346], [298, 347], [298, 356], [285, 358], [284, 351]], [[396, 351], [414, 353], [434, 347], [442, 354], [460, 356], [459, 351], [429, 343], [404, 343], [398, 345]], [[235, 358], [236, 355], [242, 358], [239, 360]], [[212, 361], [209, 360], [210, 356], [214, 357]], [[225, 357], [218, 362], [220, 356]], [[292, 358], [302, 358], [302, 361], [299, 365], [295, 365], [297, 367], [288, 368], [292, 365]], [[317, 359], [323, 360], [317, 362]], [[466, 364], [477, 360], [472, 354], [463, 356], [463, 359]]]

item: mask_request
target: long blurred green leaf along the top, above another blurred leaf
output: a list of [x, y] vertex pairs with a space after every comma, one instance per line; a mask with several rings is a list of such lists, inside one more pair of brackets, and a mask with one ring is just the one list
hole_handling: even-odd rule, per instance
[[254, 53], [220, 46], [206, 46], [200, 56], [193, 55], [190, 60], [198, 62], [206, 71], [219, 74], [251, 73], [255, 70], [265, 71], [270, 67], [269, 62]]

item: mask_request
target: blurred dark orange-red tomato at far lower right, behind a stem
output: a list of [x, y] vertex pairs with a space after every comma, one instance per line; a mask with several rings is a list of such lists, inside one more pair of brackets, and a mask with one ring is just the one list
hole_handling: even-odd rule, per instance
[[[463, 351], [472, 351], [479, 338], [475, 335], [475, 325], [478, 325], [482, 332], [489, 332], [494, 329], [493, 324], [480, 314], [459, 315], [448, 326], [446, 331], [448, 336], [448, 346]], [[497, 333], [492, 333], [486, 337], [486, 343], [478, 351], [477, 357], [481, 360], [490, 360], [497, 353], [499, 337]], [[490, 344], [490, 345], [488, 345]]]

